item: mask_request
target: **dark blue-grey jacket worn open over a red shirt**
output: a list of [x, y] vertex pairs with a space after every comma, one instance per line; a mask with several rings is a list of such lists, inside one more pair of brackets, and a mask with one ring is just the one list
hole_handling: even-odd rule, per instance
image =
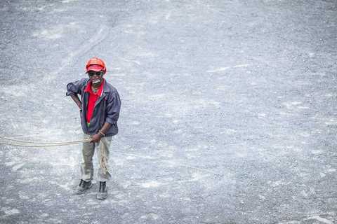
[[95, 109], [93, 109], [93, 116], [88, 127], [86, 123], [86, 111], [88, 108], [89, 93], [84, 92], [88, 84], [88, 78], [82, 78], [73, 83], [67, 84], [67, 96], [73, 94], [81, 95], [82, 111], [81, 111], [81, 126], [85, 134], [97, 134], [104, 123], [110, 123], [111, 127], [107, 131], [106, 136], [112, 136], [118, 133], [117, 120], [119, 118], [119, 111], [121, 109], [121, 99], [117, 90], [107, 83], [105, 80], [103, 87], [103, 94], [97, 99]]

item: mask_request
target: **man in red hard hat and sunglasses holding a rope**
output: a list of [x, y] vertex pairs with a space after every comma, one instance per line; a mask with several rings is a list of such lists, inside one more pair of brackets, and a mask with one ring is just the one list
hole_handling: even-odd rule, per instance
[[[103, 78], [107, 69], [102, 59], [93, 57], [86, 64], [88, 78], [67, 84], [67, 96], [71, 96], [81, 113], [84, 138], [91, 138], [82, 146], [81, 181], [76, 193], [83, 194], [91, 188], [93, 179], [93, 154], [98, 154], [98, 180], [100, 186], [97, 198], [107, 198], [107, 180], [110, 179], [107, 162], [112, 136], [118, 133], [117, 120], [121, 100], [117, 90]], [[79, 99], [81, 95], [81, 99]]]

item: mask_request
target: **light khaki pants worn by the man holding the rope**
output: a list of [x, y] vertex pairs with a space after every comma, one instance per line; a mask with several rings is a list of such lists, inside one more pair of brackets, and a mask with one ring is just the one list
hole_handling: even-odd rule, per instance
[[[90, 138], [91, 135], [84, 134], [84, 139]], [[109, 173], [109, 147], [112, 137], [103, 137], [99, 143], [84, 142], [82, 146], [82, 162], [81, 162], [81, 179], [91, 181], [93, 179], [93, 154], [98, 156], [98, 181], [107, 181], [110, 179]]]

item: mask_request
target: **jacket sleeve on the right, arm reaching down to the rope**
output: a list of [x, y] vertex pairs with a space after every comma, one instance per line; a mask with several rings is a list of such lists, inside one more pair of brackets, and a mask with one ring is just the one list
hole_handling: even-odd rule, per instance
[[107, 118], [106, 123], [114, 125], [119, 118], [119, 111], [121, 110], [121, 99], [116, 91], [112, 92], [112, 95], [107, 99]]

